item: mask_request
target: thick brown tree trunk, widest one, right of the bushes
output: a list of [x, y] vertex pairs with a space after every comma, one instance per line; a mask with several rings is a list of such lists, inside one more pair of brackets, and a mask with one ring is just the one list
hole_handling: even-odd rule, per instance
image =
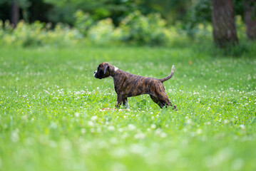
[[213, 2], [213, 39], [217, 46], [235, 46], [238, 44], [235, 28], [235, 13], [232, 0], [212, 0]]

